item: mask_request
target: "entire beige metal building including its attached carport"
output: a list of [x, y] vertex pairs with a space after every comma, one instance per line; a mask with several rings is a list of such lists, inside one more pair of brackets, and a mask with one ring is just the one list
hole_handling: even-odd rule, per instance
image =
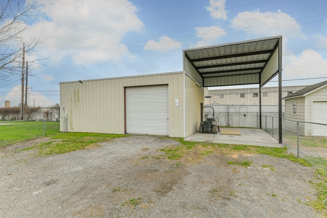
[[60, 114], [68, 131], [186, 137], [198, 130], [204, 87], [259, 84], [261, 93], [279, 75], [282, 117], [281, 71], [282, 36], [189, 49], [183, 71], [60, 83]]

